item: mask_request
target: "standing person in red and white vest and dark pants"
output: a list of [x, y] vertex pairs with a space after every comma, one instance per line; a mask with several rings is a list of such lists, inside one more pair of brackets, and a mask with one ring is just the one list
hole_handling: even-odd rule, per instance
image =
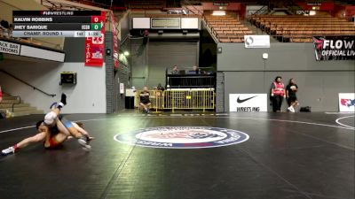
[[283, 98], [285, 95], [285, 85], [282, 83], [282, 78], [277, 76], [275, 81], [272, 82], [271, 99], [272, 99], [272, 111], [280, 112]]

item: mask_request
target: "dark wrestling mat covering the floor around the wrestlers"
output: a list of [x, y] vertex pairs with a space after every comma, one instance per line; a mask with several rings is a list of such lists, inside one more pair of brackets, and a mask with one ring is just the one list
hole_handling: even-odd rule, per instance
[[[91, 151], [71, 139], [60, 149], [43, 149], [42, 143], [35, 143], [0, 157], [1, 199], [355, 198], [353, 113], [122, 112], [66, 118], [83, 121], [96, 138]], [[0, 148], [36, 134], [34, 125], [40, 119], [43, 115], [1, 119]], [[124, 136], [144, 134], [144, 129], [152, 132], [156, 126], [190, 127], [191, 132], [193, 126], [206, 126], [246, 136], [227, 146], [190, 142], [178, 149], [142, 147], [127, 143], [134, 140], [130, 138], [118, 142]], [[193, 136], [210, 135], [200, 131]], [[165, 131], [159, 134], [170, 136]], [[213, 141], [221, 134], [198, 139]]]

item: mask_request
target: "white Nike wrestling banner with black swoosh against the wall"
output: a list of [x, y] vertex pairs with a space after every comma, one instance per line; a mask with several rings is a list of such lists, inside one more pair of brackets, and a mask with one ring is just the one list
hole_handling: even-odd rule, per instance
[[229, 111], [267, 111], [267, 94], [229, 94]]

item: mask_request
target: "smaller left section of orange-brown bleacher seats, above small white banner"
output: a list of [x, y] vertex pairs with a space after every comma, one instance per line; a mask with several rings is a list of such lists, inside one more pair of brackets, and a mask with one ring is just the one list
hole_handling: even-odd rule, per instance
[[253, 34], [233, 16], [205, 16], [205, 20], [218, 42], [244, 42], [244, 34]]

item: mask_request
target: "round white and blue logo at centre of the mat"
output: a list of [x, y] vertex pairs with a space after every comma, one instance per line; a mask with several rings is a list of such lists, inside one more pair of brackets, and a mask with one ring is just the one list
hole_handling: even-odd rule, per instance
[[209, 126], [161, 126], [116, 134], [114, 140], [141, 147], [200, 149], [223, 147], [247, 141], [248, 134]]

